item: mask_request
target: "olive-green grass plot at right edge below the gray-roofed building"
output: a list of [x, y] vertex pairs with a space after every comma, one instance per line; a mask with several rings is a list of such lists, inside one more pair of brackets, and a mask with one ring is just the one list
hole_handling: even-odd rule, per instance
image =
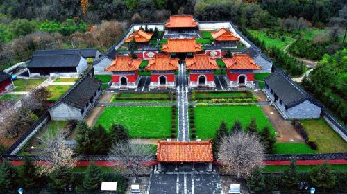
[[347, 152], [347, 143], [323, 119], [301, 120], [310, 139], [316, 141], [316, 152]]

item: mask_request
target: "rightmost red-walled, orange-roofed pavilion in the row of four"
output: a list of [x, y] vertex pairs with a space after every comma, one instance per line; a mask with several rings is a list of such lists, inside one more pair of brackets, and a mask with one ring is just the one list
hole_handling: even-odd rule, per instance
[[227, 82], [230, 87], [255, 87], [254, 71], [262, 69], [246, 54], [235, 53], [232, 58], [223, 58], [226, 64]]

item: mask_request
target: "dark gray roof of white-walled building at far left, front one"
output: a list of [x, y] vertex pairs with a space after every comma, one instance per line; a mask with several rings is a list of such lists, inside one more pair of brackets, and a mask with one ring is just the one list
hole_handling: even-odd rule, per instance
[[80, 55], [33, 55], [27, 67], [77, 67], [80, 60]]

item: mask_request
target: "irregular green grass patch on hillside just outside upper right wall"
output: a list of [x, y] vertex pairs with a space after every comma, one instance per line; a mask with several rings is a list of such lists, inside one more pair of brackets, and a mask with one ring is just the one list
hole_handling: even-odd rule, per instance
[[251, 35], [260, 39], [261, 41], [264, 41], [267, 47], [277, 47], [277, 48], [283, 49], [285, 48], [287, 44], [290, 44], [291, 42], [294, 42], [295, 40], [291, 37], [285, 37], [284, 41], [282, 41], [279, 38], [267, 37], [265, 30], [248, 30], [248, 32], [251, 33]]

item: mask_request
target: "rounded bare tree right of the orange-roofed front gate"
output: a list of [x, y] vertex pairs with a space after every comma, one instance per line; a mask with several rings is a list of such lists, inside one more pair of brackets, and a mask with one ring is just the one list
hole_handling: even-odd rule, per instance
[[237, 178], [251, 177], [255, 168], [264, 165], [264, 148], [255, 134], [235, 132], [223, 137], [217, 159]]

